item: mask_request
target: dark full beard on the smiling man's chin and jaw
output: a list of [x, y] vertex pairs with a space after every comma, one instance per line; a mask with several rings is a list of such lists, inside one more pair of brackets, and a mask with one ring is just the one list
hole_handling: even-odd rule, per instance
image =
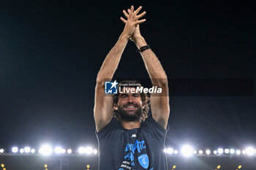
[[141, 107], [138, 107], [138, 110], [135, 111], [134, 114], [129, 114], [129, 112], [118, 106], [118, 115], [120, 116], [121, 120], [124, 120], [125, 122], [133, 122], [135, 120], [140, 120], [142, 109]]

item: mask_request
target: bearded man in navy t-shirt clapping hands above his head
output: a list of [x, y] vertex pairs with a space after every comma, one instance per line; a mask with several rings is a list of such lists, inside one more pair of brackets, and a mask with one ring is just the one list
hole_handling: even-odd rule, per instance
[[[139, 24], [146, 21], [140, 19], [146, 14], [139, 14], [141, 8], [135, 10], [132, 6], [127, 12], [123, 11], [127, 18], [121, 18], [125, 23], [124, 31], [97, 75], [94, 120], [99, 142], [100, 170], [167, 169], [163, 152], [170, 112], [167, 76], [157, 56], [140, 34]], [[150, 98], [151, 115], [145, 115], [145, 93], [132, 93], [140, 85], [127, 87], [129, 92], [118, 93], [114, 100], [105, 94], [105, 81], [112, 79], [129, 39], [140, 50], [153, 86], [162, 88], [161, 95], [152, 95]]]

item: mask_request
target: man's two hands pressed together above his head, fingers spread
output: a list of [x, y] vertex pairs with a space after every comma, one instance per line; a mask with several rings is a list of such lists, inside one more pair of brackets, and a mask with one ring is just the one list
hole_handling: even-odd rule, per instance
[[127, 20], [125, 20], [122, 17], [120, 19], [121, 21], [123, 21], [123, 23], [125, 23], [123, 34], [126, 35], [128, 38], [131, 38], [133, 41], [135, 41], [135, 37], [141, 36], [139, 24], [144, 23], [146, 21], [146, 19], [139, 19], [142, 18], [146, 14], [146, 12], [144, 11], [140, 15], [138, 15], [138, 12], [140, 12], [140, 9], [142, 7], [138, 7], [138, 9], [136, 9], [135, 11], [133, 8], [134, 7], [132, 6], [131, 9], [128, 9], [128, 13], [125, 10], [123, 10]]

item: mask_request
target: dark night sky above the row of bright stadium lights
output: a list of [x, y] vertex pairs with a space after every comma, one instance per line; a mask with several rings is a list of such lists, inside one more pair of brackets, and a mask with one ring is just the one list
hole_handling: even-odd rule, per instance
[[[97, 146], [97, 72], [124, 28], [122, 9], [131, 4], [147, 12], [141, 34], [167, 77], [255, 82], [256, 12], [249, 1], [5, 1], [0, 147]], [[115, 77], [148, 77], [135, 50], [129, 42]], [[166, 145], [255, 144], [255, 103], [255, 95], [171, 96]]]

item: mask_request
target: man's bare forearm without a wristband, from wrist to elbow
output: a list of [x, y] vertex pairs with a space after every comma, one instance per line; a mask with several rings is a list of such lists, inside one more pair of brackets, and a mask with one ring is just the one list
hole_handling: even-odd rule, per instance
[[102, 63], [102, 67], [97, 76], [97, 82], [103, 82], [105, 79], [112, 79], [127, 42], [128, 36], [121, 34], [116, 42], [116, 45], [110, 50], [110, 53], [108, 53], [105, 61]]

